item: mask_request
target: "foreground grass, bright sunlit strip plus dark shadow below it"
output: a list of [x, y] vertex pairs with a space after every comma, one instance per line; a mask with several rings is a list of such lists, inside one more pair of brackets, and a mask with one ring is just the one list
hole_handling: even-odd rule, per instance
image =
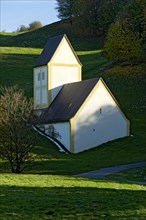
[[70, 176], [1, 174], [3, 220], [146, 217], [146, 187]]

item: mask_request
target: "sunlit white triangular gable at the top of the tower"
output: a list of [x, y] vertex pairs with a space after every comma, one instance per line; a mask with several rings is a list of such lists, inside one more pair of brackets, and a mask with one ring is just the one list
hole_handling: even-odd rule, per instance
[[59, 50], [53, 58], [52, 63], [78, 64], [78, 61], [65, 38], [61, 42]]

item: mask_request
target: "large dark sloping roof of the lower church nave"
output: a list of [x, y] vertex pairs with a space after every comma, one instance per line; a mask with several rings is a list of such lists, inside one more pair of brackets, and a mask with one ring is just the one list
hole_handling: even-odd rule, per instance
[[90, 94], [99, 78], [65, 84], [51, 105], [36, 110], [37, 124], [65, 122], [71, 119]]

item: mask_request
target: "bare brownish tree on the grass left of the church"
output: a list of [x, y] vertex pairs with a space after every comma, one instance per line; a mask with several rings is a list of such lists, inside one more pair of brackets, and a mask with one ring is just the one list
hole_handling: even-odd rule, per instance
[[9, 161], [13, 173], [21, 173], [36, 142], [32, 100], [16, 86], [1, 87], [0, 92], [0, 157]]

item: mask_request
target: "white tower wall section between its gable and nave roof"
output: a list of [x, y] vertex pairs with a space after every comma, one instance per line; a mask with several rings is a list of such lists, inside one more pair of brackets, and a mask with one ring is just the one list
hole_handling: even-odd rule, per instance
[[52, 66], [52, 101], [64, 84], [80, 81], [78, 72], [78, 67]]

